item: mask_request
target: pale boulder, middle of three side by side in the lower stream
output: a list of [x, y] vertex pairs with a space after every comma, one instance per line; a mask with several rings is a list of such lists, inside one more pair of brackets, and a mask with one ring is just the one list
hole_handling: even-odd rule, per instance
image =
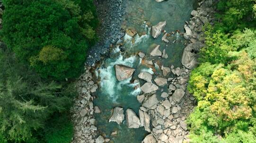
[[140, 119], [132, 109], [126, 110], [126, 122], [128, 128], [139, 128], [141, 125]]

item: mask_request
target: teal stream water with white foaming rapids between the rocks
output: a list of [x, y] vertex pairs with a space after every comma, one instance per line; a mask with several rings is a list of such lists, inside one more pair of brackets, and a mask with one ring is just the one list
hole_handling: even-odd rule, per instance
[[[139, 95], [141, 90], [140, 88], [135, 89], [134, 87], [138, 83], [131, 81], [138, 79], [138, 74], [142, 71], [154, 72], [155, 76], [161, 74], [158, 67], [148, 67], [141, 64], [141, 59], [137, 56], [139, 51], [146, 54], [145, 59], [152, 60], [159, 65], [181, 66], [185, 39], [179, 33], [170, 36], [170, 43], [161, 40], [163, 34], [157, 39], [153, 39], [150, 35], [150, 27], [160, 21], [166, 21], [167, 25], [164, 30], [167, 32], [175, 32], [176, 30], [184, 32], [185, 20], [189, 20], [190, 12], [195, 8], [195, 3], [195, 0], [166, 0], [160, 3], [155, 0], [126, 0], [126, 16], [124, 17], [123, 28], [135, 29], [138, 34], [134, 37], [125, 35], [122, 46], [125, 52], [121, 54], [121, 47], [116, 46], [112, 49], [110, 57], [103, 61], [96, 71], [97, 78], [100, 80], [100, 87], [96, 92], [97, 98], [94, 100], [94, 104], [100, 108], [101, 113], [95, 114], [95, 118], [98, 131], [101, 135], [111, 138], [110, 143], [141, 143], [143, 138], [148, 135], [144, 127], [128, 128], [126, 120], [118, 125], [116, 122], [108, 122], [108, 119], [111, 117], [112, 109], [116, 106], [123, 107], [124, 114], [126, 109], [130, 108], [138, 115], [141, 103], [137, 101], [136, 95]], [[176, 42], [172, 43], [173, 41]], [[156, 44], [160, 45], [161, 51], [166, 49], [167, 59], [149, 56]], [[117, 81], [115, 64], [127, 65], [136, 71], [132, 78]], [[140, 80], [141, 86], [144, 83], [145, 81]], [[167, 90], [167, 86], [159, 89], [158, 98], [161, 98], [159, 97], [160, 90]], [[117, 131], [117, 135], [111, 136], [113, 131]]]

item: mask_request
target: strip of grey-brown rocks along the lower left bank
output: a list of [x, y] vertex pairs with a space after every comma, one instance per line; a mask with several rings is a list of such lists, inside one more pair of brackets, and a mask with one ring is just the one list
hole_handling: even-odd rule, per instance
[[100, 109], [93, 105], [94, 96], [98, 86], [93, 81], [90, 67], [82, 74], [77, 82], [79, 96], [74, 100], [71, 109], [74, 124], [74, 137], [71, 143], [104, 143], [102, 136], [97, 137], [94, 113], [100, 113]]

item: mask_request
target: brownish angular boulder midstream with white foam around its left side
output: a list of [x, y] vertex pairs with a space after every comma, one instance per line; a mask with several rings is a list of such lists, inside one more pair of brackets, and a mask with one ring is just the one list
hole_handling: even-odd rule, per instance
[[115, 76], [118, 81], [130, 78], [134, 71], [135, 69], [125, 65], [115, 65]]

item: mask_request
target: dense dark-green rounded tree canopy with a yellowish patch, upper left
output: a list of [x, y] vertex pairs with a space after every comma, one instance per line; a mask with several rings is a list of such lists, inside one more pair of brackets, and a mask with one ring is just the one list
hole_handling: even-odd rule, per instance
[[43, 78], [63, 80], [79, 76], [86, 51], [97, 39], [94, 29], [98, 21], [92, 0], [3, 3], [2, 40], [20, 61]]

